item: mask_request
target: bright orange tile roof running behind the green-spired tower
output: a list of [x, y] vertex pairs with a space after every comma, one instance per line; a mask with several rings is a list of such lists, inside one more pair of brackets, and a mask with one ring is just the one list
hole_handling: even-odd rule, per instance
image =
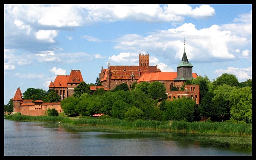
[[[198, 75], [196, 73], [192, 73], [192, 76], [194, 78], [197, 78]], [[143, 81], [157, 81], [157, 80], [174, 80], [177, 77], [177, 72], [157, 72], [157, 73], [150, 73], [150, 74], [144, 74], [140, 77], [137, 82], [143, 82]]]

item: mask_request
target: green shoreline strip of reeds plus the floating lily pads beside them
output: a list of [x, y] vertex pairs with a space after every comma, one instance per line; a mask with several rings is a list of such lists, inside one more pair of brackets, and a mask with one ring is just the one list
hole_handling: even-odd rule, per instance
[[[84, 127], [88, 129], [105, 129], [125, 133], [181, 133], [187, 135], [204, 135], [201, 140], [229, 145], [239, 145], [244, 148], [252, 147], [252, 123], [231, 123], [225, 122], [185, 122], [185, 121], [156, 121], [136, 120], [126, 121], [108, 116], [101, 117], [68, 117], [65, 114], [58, 116], [26, 116], [20, 114], [4, 114], [4, 119], [26, 122], [59, 123], [73, 128]], [[204, 137], [204, 138], [203, 138]]]

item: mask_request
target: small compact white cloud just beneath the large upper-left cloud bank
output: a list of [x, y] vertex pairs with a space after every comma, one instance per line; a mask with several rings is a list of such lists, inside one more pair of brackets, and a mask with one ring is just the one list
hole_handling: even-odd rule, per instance
[[39, 30], [35, 33], [35, 36], [38, 40], [45, 41], [47, 43], [54, 43], [53, 40], [55, 37], [58, 36], [58, 31], [55, 30]]

